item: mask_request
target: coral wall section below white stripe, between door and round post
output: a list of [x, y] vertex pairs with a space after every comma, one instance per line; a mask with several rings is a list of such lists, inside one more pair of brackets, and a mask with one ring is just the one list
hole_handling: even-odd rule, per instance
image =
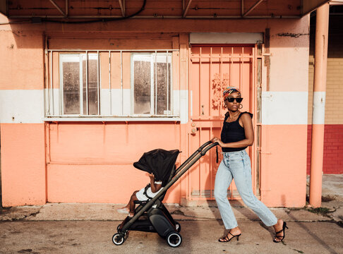
[[261, 200], [272, 207], [302, 207], [306, 202], [306, 126], [262, 128]]

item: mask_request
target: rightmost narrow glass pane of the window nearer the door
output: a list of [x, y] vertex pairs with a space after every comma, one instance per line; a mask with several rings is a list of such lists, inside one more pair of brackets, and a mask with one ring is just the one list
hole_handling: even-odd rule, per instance
[[[167, 62], [157, 63], [157, 114], [164, 115], [168, 114], [167, 110], [170, 111], [170, 100], [171, 100], [171, 76], [170, 76], [170, 63], [168, 63], [168, 75], [167, 75]], [[169, 79], [167, 82], [167, 78]], [[168, 98], [168, 100], [167, 100]], [[156, 99], [156, 94], [155, 98]], [[156, 101], [156, 100], [155, 100]], [[168, 109], [167, 109], [168, 104]], [[170, 113], [169, 113], [170, 114]]]

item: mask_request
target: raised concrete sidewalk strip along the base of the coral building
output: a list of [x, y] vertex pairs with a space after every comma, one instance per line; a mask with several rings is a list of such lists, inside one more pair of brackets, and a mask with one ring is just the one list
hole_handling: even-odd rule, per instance
[[[235, 206], [236, 205], [236, 206]], [[259, 221], [247, 207], [239, 203], [233, 205], [238, 221]], [[126, 216], [118, 214], [116, 209], [123, 204], [83, 204], [83, 203], [47, 203], [42, 206], [22, 206], [4, 208], [0, 211], [0, 221], [64, 221], [64, 220], [122, 220]], [[220, 219], [215, 202], [205, 202], [204, 206], [166, 205], [177, 220]], [[343, 175], [327, 174], [323, 176], [323, 202], [317, 210], [311, 207], [271, 208], [275, 215], [287, 222], [328, 222], [343, 221]]]

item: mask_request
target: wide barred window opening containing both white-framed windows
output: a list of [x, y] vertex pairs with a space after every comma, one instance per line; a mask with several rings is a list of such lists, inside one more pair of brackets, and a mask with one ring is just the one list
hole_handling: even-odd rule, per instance
[[46, 119], [180, 119], [174, 51], [47, 50]]

